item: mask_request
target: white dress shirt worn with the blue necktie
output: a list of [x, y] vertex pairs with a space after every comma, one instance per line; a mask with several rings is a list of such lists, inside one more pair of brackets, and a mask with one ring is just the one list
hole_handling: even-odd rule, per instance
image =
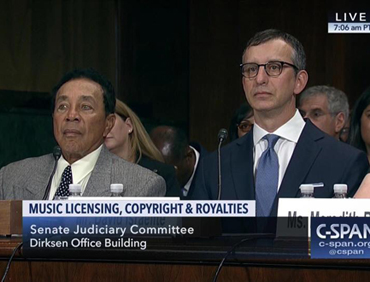
[[285, 171], [288, 167], [295, 146], [297, 145], [299, 136], [301, 136], [304, 126], [305, 122], [298, 110], [296, 110], [295, 115], [287, 123], [279, 127], [274, 132], [267, 132], [266, 130], [259, 127], [257, 123], [254, 124], [253, 127], [254, 177], [256, 176], [258, 161], [262, 153], [267, 149], [268, 145], [267, 140], [263, 139], [263, 137], [267, 134], [278, 135], [280, 138], [276, 142], [274, 150], [279, 159], [279, 182], [278, 182], [279, 190]]

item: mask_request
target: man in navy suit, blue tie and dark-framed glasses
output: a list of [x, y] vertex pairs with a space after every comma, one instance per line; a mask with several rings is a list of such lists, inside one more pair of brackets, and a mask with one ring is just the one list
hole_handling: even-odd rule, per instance
[[[278, 198], [300, 197], [301, 184], [322, 183], [314, 197], [330, 198], [333, 185], [349, 196], [366, 174], [366, 155], [327, 136], [296, 109], [308, 73], [302, 44], [290, 34], [265, 30], [242, 56], [242, 84], [255, 124], [223, 147], [222, 200], [256, 200], [257, 216], [277, 214]], [[217, 199], [217, 154], [202, 160], [193, 199]]]

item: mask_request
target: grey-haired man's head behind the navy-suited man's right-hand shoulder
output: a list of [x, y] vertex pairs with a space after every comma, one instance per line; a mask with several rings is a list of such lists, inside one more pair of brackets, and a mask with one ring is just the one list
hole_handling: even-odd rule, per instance
[[312, 86], [300, 94], [298, 108], [304, 118], [339, 140], [349, 115], [348, 99], [343, 91], [326, 85]]

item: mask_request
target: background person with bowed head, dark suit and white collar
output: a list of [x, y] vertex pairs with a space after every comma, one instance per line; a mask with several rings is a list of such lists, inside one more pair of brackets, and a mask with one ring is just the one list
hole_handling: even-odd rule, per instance
[[189, 144], [186, 134], [172, 126], [157, 126], [150, 132], [150, 137], [165, 162], [176, 168], [176, 177], [182, 191], [181, 198], [190, 199], [198, 178], [199, 161], [208, 154], [207, 150], [196, 142]]

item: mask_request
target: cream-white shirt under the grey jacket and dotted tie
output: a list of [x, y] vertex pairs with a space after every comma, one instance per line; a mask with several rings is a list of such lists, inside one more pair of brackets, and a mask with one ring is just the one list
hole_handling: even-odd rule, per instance
[[[82, 194], [85, 191], [87, 182], [90, 179], [91, 172], [95, 167], [102, 148], [103, 145], [71, 165], [73, 184], [81, 184]], [[54, 198], [54, 194], [59, 187], [60, 181], [62, 180], [63, 171], [67, 166], [69, 166], [69, 163], [64, 159], [62, 155], [58, 160], [57, 169], [51, 182], [49, 200], [52, 200]]]

